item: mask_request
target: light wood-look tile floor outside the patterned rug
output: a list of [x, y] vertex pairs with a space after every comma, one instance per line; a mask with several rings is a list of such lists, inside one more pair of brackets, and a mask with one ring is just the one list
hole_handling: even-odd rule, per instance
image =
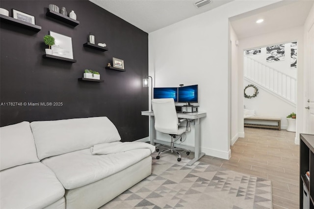
[[295, 132], [244, 128], [231, 146], [229, 160], [204, 156], [200, 161], [272, 182], [273, 209], [299, 208], [299, 145]]

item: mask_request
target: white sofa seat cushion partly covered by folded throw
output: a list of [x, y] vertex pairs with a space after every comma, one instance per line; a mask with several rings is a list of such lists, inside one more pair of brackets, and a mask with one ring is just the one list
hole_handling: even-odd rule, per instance
[[150, 149], [137, 149], [108, 155], [92, 155], [90, 149], [79, 150], [42, 160], [66, 189], [74, 189], [115, 174], [145, 157]]

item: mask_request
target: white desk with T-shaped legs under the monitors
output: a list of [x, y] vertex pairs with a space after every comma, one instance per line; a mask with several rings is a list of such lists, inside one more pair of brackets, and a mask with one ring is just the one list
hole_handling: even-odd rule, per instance
[[[151, 116], [150, 120], [150, 129], [149, 129], [149, 137], [151, 144], [154, 145], [155, 142], [164, 144], [164, 142], [155, 139], [155, 122], [154, 122], [154, 112], [153, 111], [142, 111], [142, 115]], [[201, 153], [201, 146], [200, 146], [200, 118], [206, 117], [206, 112], [194, 112], [194, 113], [177, 113], [178, 118], [187, 118], [194, 120], [194, 123], [191, 123], [191, 125], [194, 125], [195, 128], [195, 147], [190, 146], [184, 146], [184, 145], [176, 145], [176, 147], [182, 147], [187, 148], [189, 150], [194, 150], [195, 157], [187, 163], [187, 165], [193, 165], [194, 162], [199, 160], [201, 157], [205, 155], [205, 153]]]

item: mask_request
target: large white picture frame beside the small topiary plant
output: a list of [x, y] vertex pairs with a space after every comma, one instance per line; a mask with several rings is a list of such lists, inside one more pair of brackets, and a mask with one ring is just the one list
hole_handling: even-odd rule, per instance
[[54, 45], [51, 47], [52, 55], [73, 59], [72, 38], [53, 31], [49, 33], [54, 37]]

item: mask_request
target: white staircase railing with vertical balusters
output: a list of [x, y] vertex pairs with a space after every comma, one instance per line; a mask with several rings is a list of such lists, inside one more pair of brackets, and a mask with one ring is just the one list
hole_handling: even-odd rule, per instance
[[296, 106], [296, 79], [244, 56], [244, 78], [283, 101]]

